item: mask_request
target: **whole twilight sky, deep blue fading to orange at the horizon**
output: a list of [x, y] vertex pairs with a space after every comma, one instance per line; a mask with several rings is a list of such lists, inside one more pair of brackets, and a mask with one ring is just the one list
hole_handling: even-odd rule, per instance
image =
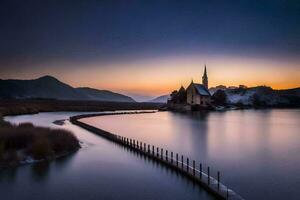
[[0, 0], [0, 79], [158, 96], [205, 64], [210, 87], [300, 87], [300, 1]]

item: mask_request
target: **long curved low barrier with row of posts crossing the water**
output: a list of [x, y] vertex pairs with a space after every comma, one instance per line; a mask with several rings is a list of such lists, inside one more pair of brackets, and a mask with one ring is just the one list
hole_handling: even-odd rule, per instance
[[216, 178], [211, 174], [211, 168], [204, 169], [203, 163], [196, 162], [195, 160], [184, 157], [181, 154], [170, 152], [166, 149], [156, 147], [154, 145], [146, 144], [142, 141], [138, 141], [132, 138], [116, 135], [108, 131], [96, 128], [80, 121], [82, 118], [103, 116], [103, 115], [120, 115], [120, 114], [142, 114], [153, 113], [149, 111], [141, 112], [115, 112], [115, 113], [97, 113], [77, 115], [70, 117], [70, 122], [84, 128], [90, 132], [93, 132], [101, 137], [104, 137], [110, 141], [116, 142], [133, 151], [136, 151], [144, 156], [158, 161], [159, 163], [176, 170], [182, 175], [186, 176], [190, 180], [199, 184], [202, 188], [210, 192], [218, 199], [243, 199], [240, 195], [236, 194], [233, 190], [221, 183], [221, 173], [218, 171]]

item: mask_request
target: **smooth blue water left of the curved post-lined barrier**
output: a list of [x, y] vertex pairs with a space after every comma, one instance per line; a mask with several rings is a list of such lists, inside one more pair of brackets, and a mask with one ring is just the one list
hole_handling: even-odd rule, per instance
[[[52, 124], [79, 113], [7, 117], [20, 123], [72, 130], [83, 148], [72, 156], [0, 170], [1, 200], [213, 199], [167, 168], [70, 123]], [[121, 128], [121, 127], [120, 127]]]

